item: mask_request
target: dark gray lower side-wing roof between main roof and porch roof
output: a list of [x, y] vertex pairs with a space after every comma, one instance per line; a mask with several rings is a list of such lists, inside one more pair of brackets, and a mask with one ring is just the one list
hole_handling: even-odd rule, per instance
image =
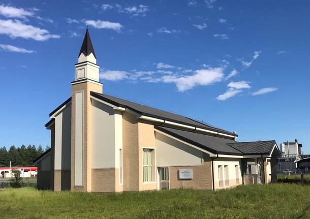
[[240, 151], [228, 145], [228, 143], [235, 143], [234, 140], [166, 127], [156, 126], [155, 128], [215, 154], [243, 155]]

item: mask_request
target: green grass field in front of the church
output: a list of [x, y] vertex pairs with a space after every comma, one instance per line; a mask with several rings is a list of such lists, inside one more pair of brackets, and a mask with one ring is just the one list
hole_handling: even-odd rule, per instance
[[216, 192], [0, 191], [1, 218], [310, 218], [309, 207], [310, 186], [290, 183], [246, 185]]

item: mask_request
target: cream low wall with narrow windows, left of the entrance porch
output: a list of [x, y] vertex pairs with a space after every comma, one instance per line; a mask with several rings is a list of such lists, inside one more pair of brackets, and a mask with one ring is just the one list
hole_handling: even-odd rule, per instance
[[[219, 166], [223, 166], [223, 179], [225, 176], [224, 166], [228, 165], [228, 173], [229, 173], [229, 186], [225, 185], [224, 187], [220, 187], [219, 181]], [[236, 170], [235, 166], [238, 166], [238, 177], [236, 177]], [[214, 170], [214, 188], [216, 189], [224, 189], [226, 187], [234, 187], [236, 185], [242, 184], [242, 177], [241, 177], [241, 159], [239, 158], [216, 158], [213, 161], [213, 170]], [[239, 178], [239, 184], [237, 184], [236, 178]]]

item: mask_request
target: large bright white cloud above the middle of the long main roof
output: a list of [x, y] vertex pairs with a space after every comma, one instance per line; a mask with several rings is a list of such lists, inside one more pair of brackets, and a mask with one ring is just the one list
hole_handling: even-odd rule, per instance
[[209, 68], [196, 70], [192, 75], [186, 76], [163, 76], [163, 82], [175, 83], [178, 91], [192, 89], [197, 85], [210, 85], [215, 82], [220, 82], [223, 77], [223, 68]]

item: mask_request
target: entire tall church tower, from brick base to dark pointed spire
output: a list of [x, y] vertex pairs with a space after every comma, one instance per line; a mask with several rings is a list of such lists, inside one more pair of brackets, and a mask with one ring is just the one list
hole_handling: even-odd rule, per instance
[[99, 66], [88, 29], [75, 65], [71, 112], [71, 190], [91, 192], [91, 99], [90, 91], [102, 93]]

